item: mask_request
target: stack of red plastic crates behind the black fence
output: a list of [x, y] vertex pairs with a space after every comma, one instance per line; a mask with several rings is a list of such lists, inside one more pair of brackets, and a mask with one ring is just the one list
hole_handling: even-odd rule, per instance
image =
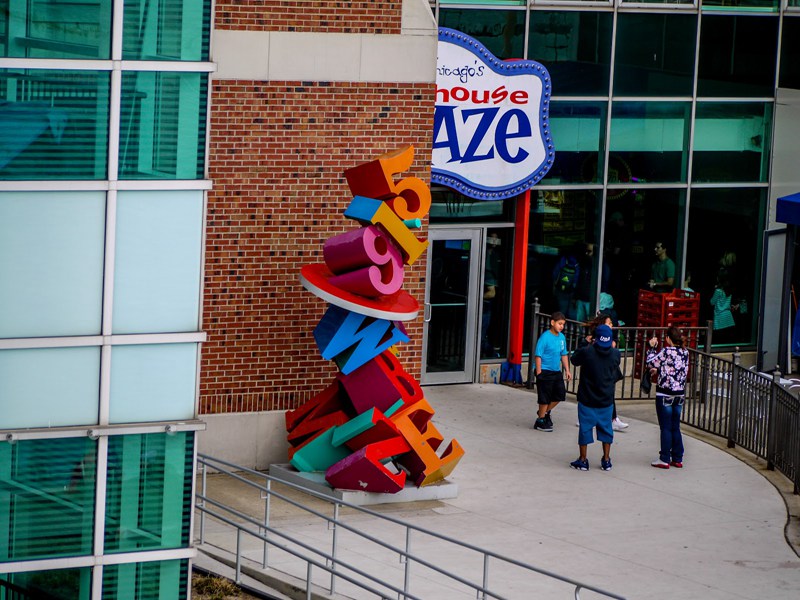
[[[650, 290], [639, 290], [637, 327], [697, 327], [700, 323], [700, 294], [674, 289], [661, 294]], [[634, 377], [642, 375], [642, 364], [647, 350], [645, 333], [637, 333], [634, 345]], [[638, 339], [642, 337], [643, 339]], [[648, 338], [649, 339], [649, 338]], [[688, 346], [697, 347], [696, 332], [689, 332]]]

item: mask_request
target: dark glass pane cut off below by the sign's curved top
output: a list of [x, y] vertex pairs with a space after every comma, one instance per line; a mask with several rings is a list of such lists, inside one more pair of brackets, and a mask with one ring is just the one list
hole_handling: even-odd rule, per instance
[[524, 58], [524, 10], [442, 8], [439, 25], [475, 38], [497, 58]]

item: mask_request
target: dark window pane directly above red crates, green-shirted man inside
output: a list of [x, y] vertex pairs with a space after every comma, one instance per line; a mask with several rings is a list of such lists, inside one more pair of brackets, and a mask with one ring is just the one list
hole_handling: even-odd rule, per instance
[[[671, 261], [673, 282], [656, 291], [681, 287], [685, 190], [611, 189], [606, 202], [604, 284], [611, 294], [617, 318], [637, 324], [640, 289], [651, 289], [649, 281]], [[663, 247], [665, 254], [655, 248]], [[657, 269], [654, 273], [654, 267]], [[658, 278], [658, 281], [665, 281]]]

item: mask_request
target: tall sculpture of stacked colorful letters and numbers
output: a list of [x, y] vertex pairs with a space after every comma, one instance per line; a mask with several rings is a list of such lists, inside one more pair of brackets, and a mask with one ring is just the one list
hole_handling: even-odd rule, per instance
[[393, 178], [413, 158], [406, 146], [345, 171], [354, 198], [344, 214], [361, 227], [328, 239], [325, 263], [300, 271], [303, 286], [329, 303], [314, 339], [341, 372], [286, 413], [289, 460], [298, 471], [325, 471], [339, 489], [396, 493], [408, 478], [429, 485], [464, 455], [455, 440], [437, 453], [444, 438], [431, 422], [434, 411], [393, 352], [409, 340], [402, 322], [419, 312], [402, 290], [405, 265], [428, 247], [412, 231], [430, 210], [428, 186]]

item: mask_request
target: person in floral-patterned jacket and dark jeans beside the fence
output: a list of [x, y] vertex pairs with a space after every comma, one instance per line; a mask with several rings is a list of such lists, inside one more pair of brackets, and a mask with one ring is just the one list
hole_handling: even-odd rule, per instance
[[658, 338], [653, 336], [647, 350], [646, 365], [658, 371], [656, 381], [656, 415], [661, 429], [661, 450], [658, 460], [650, 463], [659, 469], [683, 467], [683, 436], [681, 411], [686, 398], [686, 374], [689, 370], [689, 351], [684, 348], [683, 335], [670, 327], [664, 338], [665, 346], [658, 350]]

